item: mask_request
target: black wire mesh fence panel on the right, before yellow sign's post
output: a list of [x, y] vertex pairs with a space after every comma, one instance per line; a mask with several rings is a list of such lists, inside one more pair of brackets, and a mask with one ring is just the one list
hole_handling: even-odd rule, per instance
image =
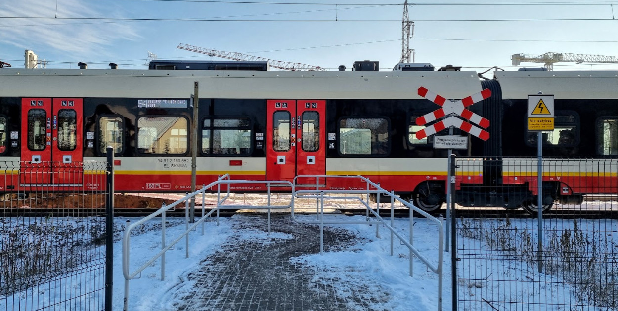
[[618, 310], [616, 157], [456, 164], [457, 309]]

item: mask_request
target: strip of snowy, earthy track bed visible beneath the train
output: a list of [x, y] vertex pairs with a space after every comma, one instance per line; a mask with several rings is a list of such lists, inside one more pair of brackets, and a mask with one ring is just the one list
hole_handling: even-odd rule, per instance
[[[99, 197], [100, 196], [100, 197]], [[169, 205], [180, 199], [185, 194], [177, 193], [127, 193], [116, 194], [114, 196], [114, 215], [119, 217], [145, 217], [157, 209], [164, 203]], [[204, 204], [206, 212], [216, 207], [216, 202], [223, 195], [216, 193], [207, 193], [205, 196], [196, 197], [195, 215], [201, 215], [201, 205]], [[231, 215], [246, 215], [246, 214], [265, 214], [267, 210], [258, 209], [260, 205], [266, 205], [270, 202], [271, 205], [289, 205], [292, 199], [289, 193], [272, 194], [270, 200], [266, 194], [260, 193], [232, 193], [226, 200], [225, 204], [231, 208], [235, 205], [239, 206], [235, 210], [220, 210], [219, 215], [229, 217]], [[360, 199], [365, 197], [360, 196]], [[2, 204], [4, 203], [4, 204]], [[55, 196], [50, 197], [30, 197], [16, 201], [0, 202], [0, 209], [3, 217], [82, 217], [92, 215], [104, 215], [104, 197], [101, 194], [88, 196], [80, 194], [78, 196]], [[296, 198], [295, 213], [298, 214], [315, 214], [318, 207], [315, 199]], [[376, 208], [376, 203], [372, 208]], [[256, 209], [245, 209], [247, 205], [256, 206]], [[395, 217], [408, 217], [409, 210], [403, 204], [396, 202], [394, 206]], [[455, 207], [457, 217], [472, 217], [472, 218], [536, 218], [536, 215], [530, 215], [522, 209], [506, 210], [497, 207]], [[271, 212], [276, 214], [289, 213], [289, 209], [278, 210], [273, 209]], [[366, 214], [365, 206], [358, 200], [345, 199], [344, 197], [335, 197], [324, 201], [324, 212], [326, 214], [345, 214], [345, 215], [364, 215]], [[446, 209], [441, 209], [434, 212], [434, 215], [446, 216]], [[185, 202], [181, 202], [176, 208], [167, 212], [170, 217], [185, 216]], [[390, 204], [380, 204], [380, 215], [390, 217]], [[415, 217], [422, 217], [415, 213]], [[548, 212], [544, 212], [544, 218], [617, 218], [618, 203], [616, 201], [590, 201], [582, 205], [557, 205]]]

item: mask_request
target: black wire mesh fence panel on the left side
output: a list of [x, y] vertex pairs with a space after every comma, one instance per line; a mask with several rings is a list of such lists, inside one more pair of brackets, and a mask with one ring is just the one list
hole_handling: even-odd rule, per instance
[[0, 163], [0, 310], [105, 309], [107, 169]]

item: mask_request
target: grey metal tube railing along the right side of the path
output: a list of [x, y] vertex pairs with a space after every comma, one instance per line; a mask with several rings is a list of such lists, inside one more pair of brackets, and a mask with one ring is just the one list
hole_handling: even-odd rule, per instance
[[[320, 216], [320, 220], [299, 220], [294, 215], [294, 200], [292, 200], [292, 210], [291, 210], [292, 219], [294, 219], [295, 222], [298, 222], [298, 223], [320, 224], [320, 252], [323, 252], [323, 247], [324, 247], [324, 232], [323, 232], [324, 223], [328, 223], [328, 224], [359, 224], [360, 223], [360, 224], [368, 224], [368, 225], [373, 224], [373, 223], [378, 223], [378, 224], [386, 226], [386, 228], [391, 230], [391, 255], [393, 254], [393, 251], [392, 251], [393, 236], [396, 236], [401, 241], [401, 243], [403, 243], [410, 250], [410, 259], [409, 259], [410, 260], [410, 276], [412, 276], [412, 254], [416, 255], [418, 259], [421, 260], [421, 262], [425, 263], [426, 267], [428, 267], [431, 270], [431, 272], [436, 273], [438, 275], [438, 310], [442, 310], [442, 275], [443, 275], [443, 271], [442, 271], [443, 255], [442, 253], [444, 252], [444, 228], [442, 226], [441, 219], [435, 218], [431, 216], [430, 214], [428, 214], [427, 212], [425, 212], [424, 210], [421, 210], [418, 207], [414, 206], [413, 204], [410, 204], [410, 202], [406, 202], [400, 199], [400, 197], [394, 194], [394, 191], [391, 191], [391, 192], [386, 191], [386, 189], [381, 188], [381, 186], [379, 186], [376, 183], [373, 183], [373, 181], [370, 181], [368, 178], [365, 178], [364, 176], [360, 176], [360, 175], [354, 175], [354, 176], [349, 176], [349, 175], [298, 175], [294, 178], [294, 184], [296, 184], [296, 180], [299, 177], [300, 178], [307, 178], [307, 177], [316, 178], [316, 185], [320, 185], [319, 183], [320, 178], [360, 178], [360, 180], [365, 181], [367, 187], [366, 189], [362, 189], [362, 190], [319, 189], [319, 186], [316, 186], [316, 189], [304, 189], [304, 190], [293, 191], [292, 197], [300, 197], [298, 196], [298, 194], [304, 194], [304, 193], [315, 194], [315, 195], [303, 195], [302, 198], [320, 199], [320, 204], [319, 204], [320, 211], [319, 212], [321, 216]], [[370, 186], [373, 186], [376, 189], [375, 190], [370, 189]], [[366, 193], [367, 201], [363, 201], [363, 199], [360, 197], [353, 197], [353, 199], [358, 199], [358, 201], [362, 202], [362, 204], [365, 205], [366, 207], [367, 213], [371, 212], [371, 214], [373, 214], [376, 217], [376, 220], [378, 221], [371, 222], [369, 219], [366, 222], [346, 222], [346, 221], [337, 221], [337, 220], [325, 221], [324, 220], [324, 199], [340, 199], [340, 197], [324, 196], [325, 193], [362, 193], [362, 194]], [[369, 194], [371, 193], [376, 194], [376, 205], [378, 207], [377, 210], [372, 209], [368, 203]], [[380, 202], [379, 196], [381, 194], [391, 197], [391, 224], [390, 225], [386, 223], [384, 219], [380, 217], [379, 215], [379, 202]], [[409, 242], [406, 241], [404, 237], [401, 236], [393, 226], [394, 202], [395, 201], [399, 201], [405, 207], [408, 207], [408, 209], [410, 209], [410, 241]], [[434, 222], [436, 226], [438, 226], [438, 263], [436, 265], [431, 263], [423, 255], [421, 255], [420, 252], [418, 252], [418, 250], [413, 246], [413, 243], [412, 243], [413, 212], [418, 212], [418, 214], [425, 216], [428, 220], [430, 220], [431, 222]], [[376, 236], [379, 238], [378, 228], [376, 228]]]

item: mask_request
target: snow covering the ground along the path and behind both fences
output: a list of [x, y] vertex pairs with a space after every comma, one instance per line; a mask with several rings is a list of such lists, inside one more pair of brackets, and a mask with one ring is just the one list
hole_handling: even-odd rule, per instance
[[[212, 254], [221, 247], [227, 238], [232, 236], [232, 225], [234, 222], [242, 222], [242, 215], [235, 215], [229, 218], [220, 218], [219, 225], [216, 225], [214, 219], [208, 220], [205, 225], [205, 235], [200, 235], [200, 229], [197, 232], [193, 232], [190, 238], [190, 257], [185, 258], [185, 244], [182, 239], [175, 247], [175, 249], [167, 252], [166, 254], [166, 277], [164, 281], [160, 280], [160, 260], [156, 260], [151, 267], [147, 268], [141, 275], [141, 278], [130, 281], [130, 295], [128, 297], [130, 310], [174, 310], [172, 305], [177, 303], [182, 295], [179, 295], [177, 289], [186, 288], [187, 286], [193, 286], [188, 281], [187, 275], [194, 271], [200, 260], [205, 258], [208, 254]], [[305, 219], [315, 220], [315, 215], [301, 215]], [[327, 215], [329, 219], [336, 220], [363, 220], [363, 216], [348, 217], [345, 215]], [[140, 218], [116, 218], [117, 233], [124, 228], [127, 220], [135, 222]], [[168, 218], [169, 224], [167, 226], [167, 240], [178, 236], [185, 230], [184, 219]], [[4, 226], [9, 226], [9, 222], [23, 221], [18, 219], [5, 219], [3, 221]], [[43, 219], [30, 218], [30, 222], [43, 222]], [[487, 222], [496, 222], [496, 226], [501, 225], [503, 222], [498, 220], [486, 220]], [[513, 220], [515, 226], [518, 228], [527, 228], [528, 230], [535, 231], [535, 225], [532, 222], [526, 220]], [[521, 223], [517, 223], [520, 222]], [[408, 219], [397, 218], [394, 220], [395, 227], [404, 236], [408, 236]], [[586, 221], [583, 221], [584, 223]], [[609, 220], [607, 225], [611, 230], [618, 230], [617, 220]], [[557, 224], [559, 225], [559, 224]], [[351, 249], [337, 252], [326, 252], [325, 254], [313, 254], [313, 255], [301, 255], [292, 259], [296, 263], [300, 263], [307, 267], [320, 266], [328, 267], [328, 275], [316, 275], [316, 280], [323, 278], [350, 278], [350, 268], [353, 268], [354, 280], [373, 280], [380, 284], [383, 288], [387, 288], [392, 293], [386, 301], [376, 302], [373, 305], [374, 310], [437, 310], [438, 296], [436, 294], [438, 288], [438, 276], [434, 273], [427, 272], [426, 267], [418, 259], [413, 260], [413, 276], [408, 275], [408, 258], [409, 252], [407, 247], [403, 246], [399, 242], [394, 243], [394, 255], [389, 255], [391, 247], [390, 234], [386, 228], [380, 228], [381, 238], [376, 238], [375, 226], [367, 225], [331, 225], [345, 230], [350, 230], [355, 233], [358, 238], [363, 238], [364, 243], [355, 245]], [[275, 243], [277, 239], [286, 239], [289, 236], [283, 233], [273, 232], [268, 234], [267, 228], [253, 228], [243, 233], [243, 238], [252, 239], [255, 241], [261, 241], [263, 243]], [[431, 262], [437, 262], [437, 234], [436, 226], [433, 223], [428, 222], [425, 219], [415, 219], [414, 225], [414, 246], [420, 250], [421, 254], [428, 257]], [[558, 228], [558, 231], [562, 228]], [[615, 231], [614, 231], [615, 232]], [[533, 236], [534, 238], [534, 236]], [[486, 245], [488, 240], [475, 237], [473, 234], [469, 234], [466, 237], [462, 237], [462, 243], [475, 243], [480, 249], [492, 249]], [[610, 238], [610, 243], [618, 245], [618, 236], [614, 234]], [[591, 243], [607, 243], [598, 240], [591, 240]], [[597, 245], [600, 247], [601, 245]], [[103, 246], [98, 246], [103, 247]], [[593, 247], [592, 245], [590, 247]], [[605, 246], [603, 246], [605, 247]], [[138, 230], [132, 235], [130, 244], [130, 266], [131, 271], [145, 263], [154, 254], [156, 254], [161, 248], [161, 235], [160, 235], [160, 219], [154, 219], [148, 222], [142, 227], [142, 230]], [[618, 250], [618, 249], [617, 249]], [[451, 310], [451, 257], [450, 253], [444, 254], [444, 291], [443, 291], [443, 309]], [[539, 279], [546, 277], [536, 272], [534, 265], [528, 264], [515, 264], [513, 260], [498, 260], [491, 262], [492, 267], [482, 267], [481, 265], [475, 265], [474, 262], [462, 263], [467, 265], [467, 268], [478, 276], [488, 275], [489, 273], [500, 273], [500, 278], [505, 281], [522, 282], [519, 278], [522, 275], [526, 275], [530, 278]], [[514, 269], [517, 269], [517, 273], [514, 273]], [[523, 272], [522, 272], [523, 270]], [[341, 272], [341, 273], [340, 273]], [[494, 275], [495, 276], [495, 275]], [[551, 280], [554, 282], [551, 284], [557, 294], [550, 294], [546, 289], [536, 288], [535, 286], [523, 286], [525, 292], [522, 291], [522, 287], [502, 288], [500, 291], [496, 291], [496, 295], [502, 295], [507, 297], [522, 297], [527, 299], [528, 302], [548, 302], [560, 304], [564, 301], [572, 301], [575, 299], [577, 288], [573, 288], [568, 284], [565, 284], [561, 280], [562, 275], [551, 276]], [[83, 287], [87, 289], [88, 286], [94, 286], [93, 284], [100, 284], [99, 282], [90, 282], [80, 279], [78, 276], [72, 276], [72, 284], [75, 287]], [[103, 280], [103, 275], [93, 276], [93, 278], [99, 278]], [[471, 284], [471, 283], [459, 283], [459, 292], [462, 294], [470, 294], [470, 289], [476, 286], [499, 286], [498, 283], [494, 284]], [[43, 304], [46, 301], [62, 301], [62, 299], [56, 299], [54, 297], [48, 297], [49, 295], [62, 295], [61, 292], [54, 291], [30, 291], [39, 297], [32, 299], [32, 297], [23, 297], [23, 294], [17, 293], [9, 297], [0, 297], [0, 310], [35, 310], [37, 304]], [[88, 292], [88, 291], [86, 291]], [[341, 291], [337, 288], [334, 289], [334, 294], [340, 296], [342, 299], [349, 296], [349, 292]], [[92, 294], [85, 294], [78, 299], [78, 302], [72, 301], [67, 305], [58, 305], [57, 309], [62, 310], [84, 310], [88, 305], [92, 305], [92, 302], [101, 299], [100, 292], [95, 293], [96, 297]], [[553, 295], [553, 296], [552, 296]], [[113, 310], [122, 310], [124, 297], [124, 278], [122, 276], [122, 246], [121, 241], [117, 239], [114, 244], [114, 307]], [[491, 299], [491, 297], [489, 297]], [[496, 297], [499, 299], [501, 297]], [[514, 308], [514, 307], [513, 307]], [[465, 308], [466, 310], [491, 310], [489, 305], [475, 305], [473, 302], [468, 302]], [[509, 309], [509, 308], [507, 308]], [[507, 310], [504, 309], [504, 310]], [[502, 309], [500, 309], [502, 310]], [[548, 308], [547, 310], [562, 310], [561, 307]], [[577, 310], [608, 310], [595, 307], [586, 307]], [[611, 310], [611, 309], [610, 309]]]

